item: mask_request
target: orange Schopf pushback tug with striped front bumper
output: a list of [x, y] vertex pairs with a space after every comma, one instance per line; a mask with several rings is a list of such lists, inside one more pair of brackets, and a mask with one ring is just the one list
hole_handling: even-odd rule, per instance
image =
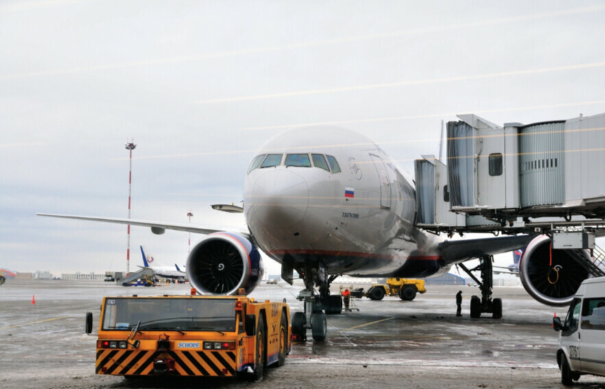
[[289, 318], [285, 299], [104, 297], [97, 374], [259, 379], [265, 366], [282, 366], [290, 352]]

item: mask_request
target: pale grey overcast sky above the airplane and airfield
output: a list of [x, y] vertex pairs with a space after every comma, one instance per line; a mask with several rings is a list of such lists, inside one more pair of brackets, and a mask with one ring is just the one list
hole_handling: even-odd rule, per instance
[[[3, 1], [0, 268], [125, 271], [125, 226], [35, 214], [126, 217], [132, 138], [132, 218], [238, 227], [209, 205], [288, 127], [354, 129], [412, 171], [456, 114], [605, 112], [604, 21], [602, 1]], [[133, 227], [131, 270], [187, 239]]]

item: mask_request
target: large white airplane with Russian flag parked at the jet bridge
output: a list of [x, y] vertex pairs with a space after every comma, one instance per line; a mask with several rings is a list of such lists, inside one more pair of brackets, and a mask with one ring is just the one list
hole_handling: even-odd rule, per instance
[[[305, 312], [293, 316], [293, 333], [325, 338], [327, 314], [341, 312], [341, 297], [329, 286], [342, 274], [360, 277], [430, 277], [454, 264], [482, 258], [482, 299], [471, 299], [471, 316], [502, 315], [502, 301], [491, 299], [491, 258], [528, 246], [526, 290], [541, 303], [566, 305], [587, 273], [571, 274], [575, 264], [565, 250], [552, 250], [547, 236], [504, 236], [439, 242], [415, 227], [415, 182], [375, 145], [353, 131], [304, 127], [278, 134], [253, 158], [244, 181], [243, 210], [248, 231], [221, 231], [190, 225], [127, 218], [40, 214], [208, 234], [190, 252], [186, 273], [203, 294], [251, 292], [262, 279], [258, 250], [304, 279]], [[237, 211], [233, 205], [214, 208]], [[569, 277], [554, 277], [555, 264]], [[569, 265], [569, 266], [568, 266]], [[559, 268], [559, 269], [560, 269]], [[534, 270], [536, 269], [536, 270]], [[489, 277], [487, 274], [489, 273]], [[553, 280], [555, 283], [553, 284]], [[315, 288], [319, 288], [319, 295]]]

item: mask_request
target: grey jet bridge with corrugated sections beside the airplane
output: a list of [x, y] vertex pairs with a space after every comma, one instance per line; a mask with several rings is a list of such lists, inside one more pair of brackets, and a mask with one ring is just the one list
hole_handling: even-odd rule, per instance
[[416, 160], [417, 226], [541, 232], [605, 227], [605, 114], [495, 125], [447, 123], [447, 165]]

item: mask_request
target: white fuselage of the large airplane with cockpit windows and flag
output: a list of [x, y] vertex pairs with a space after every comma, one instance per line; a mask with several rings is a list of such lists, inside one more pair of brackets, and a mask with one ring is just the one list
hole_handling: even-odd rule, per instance
[[247, 172], [244, 204], [252, 236], [277, 262], [315, 259], [328, 273], [359, 276], [443, 273], [436, 239], [414, 227], [410, 175], [352, 131], [302, 128], [269, 140]]

